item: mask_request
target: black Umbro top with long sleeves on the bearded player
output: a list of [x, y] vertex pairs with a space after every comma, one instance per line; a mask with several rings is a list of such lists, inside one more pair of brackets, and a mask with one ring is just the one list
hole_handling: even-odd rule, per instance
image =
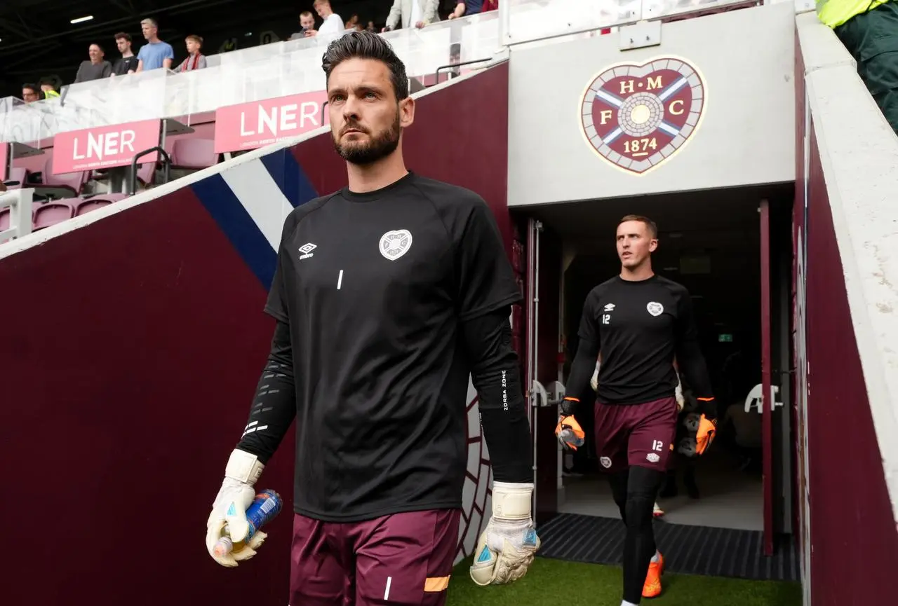
[[[284, 377], [263, 377], [253, 404], [289, 392], [292, 368], [294, 511], [355, 522], [461, 507], [468, 464], [480, 469], [469, 377], [495, 479], [532, 481], [508, 328], [521, 299], [496, 219], [470, 190], [409, 174], [295, 208], [265, 307], [292, 361], [269, 359]], [[267, 455], [258, 426], [271, 423], [255, 420], [238, 447]]]

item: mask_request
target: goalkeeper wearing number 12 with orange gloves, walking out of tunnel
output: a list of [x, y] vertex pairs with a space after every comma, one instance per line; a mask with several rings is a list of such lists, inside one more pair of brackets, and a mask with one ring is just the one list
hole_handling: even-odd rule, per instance
[[583, 444], [583, 430], [574, 414], [577, 404], [592, 393], [590, 377], [601, 351], [595, 448], [627, 525], [621, 606], [661, 593], [664, 558], [656, 550], [652, 509], [674, 449], [678, 412], [674, 357], [692, 393], [705, 403], [697, 436], [699, 453], [709, 446], [716, 427], [689, 292], [652, 271], [651, 254], [657, 246], [653, 221], [637, 215], [621, 220], [617, 228], [621, 274], [586, 297], [577, 356], [556, 428], [563, 445]]

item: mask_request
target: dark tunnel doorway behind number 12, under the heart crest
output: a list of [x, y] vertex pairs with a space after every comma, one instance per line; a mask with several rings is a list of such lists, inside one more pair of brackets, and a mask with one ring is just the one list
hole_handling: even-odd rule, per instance
[[[578, 415], [586, 444], [576, 453], [560, 449], [553, 429], [586, 295], [620, 272], [616, 226], [626, 214], [641, 214], [659, 231], [655, 272], [690, 290], [718, 403], [714, 445], [700, 458], [690, 456], [688, 415], [695, 401], [683, 379], [678, 452], [657, 500], [662, 519], [763, 532], [771, 544], [792, 532], [793, 197], [794, 185], [782, 184], [513, 207], [527, 269], [524, 317], [531, 320], [524, 323], [525, 374], [527, 385], [538, 385], [530, 394], [538, 522], [558, 514], [620, 516], [599, 473], [592, 415]], [[759, 401], [764, 367], [781, 404], [766, 432], [761, 411], [767, 406]]]

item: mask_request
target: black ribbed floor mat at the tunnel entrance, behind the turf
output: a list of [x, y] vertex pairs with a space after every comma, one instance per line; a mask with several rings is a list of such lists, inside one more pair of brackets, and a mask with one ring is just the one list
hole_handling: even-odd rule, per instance
[[[619, 519], [559, 514], [537, 532], [543, 558], [621, 564], [625, 529]], [[788, 537], [778, 541], [770, 558], [763, 554], [763, 534], [757, 531], [656, 521], [655, 539], [669, 572], [759, 581], [799, 581], [801, 577], [795, 542]]]

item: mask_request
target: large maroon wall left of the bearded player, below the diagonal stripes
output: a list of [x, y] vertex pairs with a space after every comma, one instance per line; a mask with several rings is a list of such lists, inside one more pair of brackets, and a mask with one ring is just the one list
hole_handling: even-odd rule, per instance
[[[274, 321], [191, 190], [7, 257], [0, 284], [4, 604], [284, 606], [289, 515], [251, 567], [206, 552]], [[292, 444], [260, 481], [288, 504]]]

